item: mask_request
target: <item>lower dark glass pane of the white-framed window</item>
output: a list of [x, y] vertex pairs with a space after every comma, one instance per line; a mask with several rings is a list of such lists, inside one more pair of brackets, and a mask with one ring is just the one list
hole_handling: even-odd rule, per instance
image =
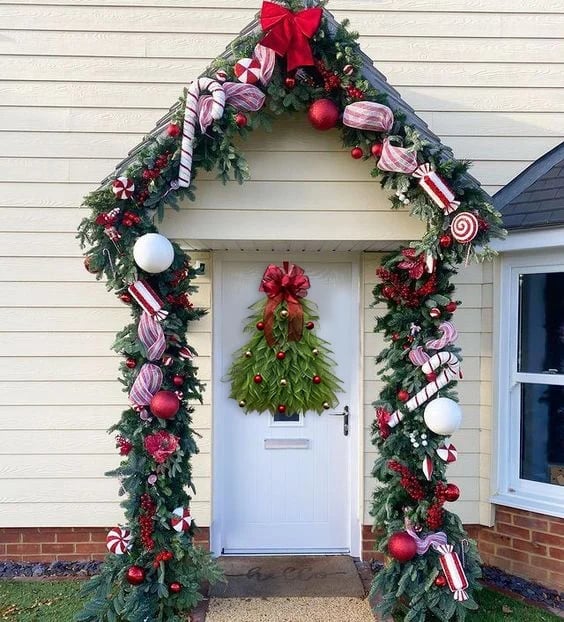
[[520, 476], [564, 486], [564, 387], [521, 385]]

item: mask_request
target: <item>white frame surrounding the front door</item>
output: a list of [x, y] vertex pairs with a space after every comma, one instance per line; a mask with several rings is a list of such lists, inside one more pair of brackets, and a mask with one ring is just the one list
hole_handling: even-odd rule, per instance
[[[362, 522], [364, 517], [364, 409], [362, 407], [362, 330], [363, 330], [363, 305], [362, 305], [362, 282], [361, 282], [361, 253], [307, 253], [294, 252], [281, 253], [274, 252], [253, 252], [253, 251], [213, 251], [212, 252], [212, 443], [211, 443], [211, 461], [212, 461], [212, 498], [211, 498], [211, 523], [210, 523], [210, 549], [214, 556], [221, 555], [223, 549], [222, 537], [222, 517], [225, 516], [225, 508], [223, 504], [222, 491], [227, 485], [228, 477], [224, 473], [221, 464], [221, 456], [224, 455], [223, 448], [225, 446], [225, 434], [223, 434], [224, 426], [222, 426], [221, 408], [213, 399], [218, 394], [216, 386], [222, 381], [223, 369], [223, 353], [221, 351], [222, 344], [222, 326], [221, 313], [216, 313], [216, 309], [221, 310], [223, 307], [223, 299], [221, 294], [221, 284], [223, 279], [223, 262], [247, 262], [247, 261], [264, 261], [266, 263], [281, 263], [289, 260], [289, 256], [298, 255], [297, 263], [300, 261], [323, 261], [326, 264], [347, 262], [352, 267], [352, 289], [353, 300], [351, 300], [351, 309], [355, 326], [353, 334], [355, 335], [352, 350], [357, 365], [353, 365], [351, 376], [351, 394], [349, 408], [353, 416], [350, 418], [350, 451], [349, 451], [349, 474], [350, 474], [350, 504], [344, 508], [349, 514], [349, 542], [350, 555], [360, 557], [362, 542]], [[258, 298], [258, 284], [257, 284]], [[355, 390], [356, 387], [356, 390]], [[321, 415], [323, 416], [323, 415]], [[323, 554], [323, 553], [320, 553]]]

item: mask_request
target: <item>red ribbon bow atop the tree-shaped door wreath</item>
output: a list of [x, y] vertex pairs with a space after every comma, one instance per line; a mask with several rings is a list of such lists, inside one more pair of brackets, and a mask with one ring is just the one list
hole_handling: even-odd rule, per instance
[[274, 337], [274, 312], [281, 302], [288, 309], [288, 341], [299, 341], [304, 330], [304, 312], [299, 298], [307, 296], [309, 279], [303, 268], [283, 262], [283, 268], [270, 264], [264, 271], [259, 291], [268, 296], [264, 309], [264, 336], [270, 347], [276, 343]]

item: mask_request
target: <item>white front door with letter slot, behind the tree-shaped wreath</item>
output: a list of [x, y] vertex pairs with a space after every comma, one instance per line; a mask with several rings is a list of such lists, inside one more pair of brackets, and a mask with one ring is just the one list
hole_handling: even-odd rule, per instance
[[[246, 257], [226, 254], [214, 268], [219, 280], [214, 300], [214, 552], [351, 552], [351, 534], [359, 528], [351, 497], [356, 494], [353, 477], [358, 477], [357, 261]], [[331, 344], [344, 387], [336, 409], [294, 421], [276, 421], [269, 413], [245, 415], [229, 399], [225, 382], [233, 353], [248, 340], [243, 327], [249, 305], [263, 295], [258, 287], [264, 269], [282, 260], [293, 260], [310, 278], [308, 298], [320, 316], [316, 330]], [[333, 416], [345, 406], [350, 408], [348, 435], [343, 417]]]

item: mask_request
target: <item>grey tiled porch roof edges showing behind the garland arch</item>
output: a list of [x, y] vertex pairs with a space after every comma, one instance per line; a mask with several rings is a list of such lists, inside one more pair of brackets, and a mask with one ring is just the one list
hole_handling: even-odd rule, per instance
[[[327, 24], [330, 30], [332, 32], [335, 32], [336, 29], [339, 27], [339, 22], [326, 8], [323, 8], [323, 16], [327, 20]], [[246, 26], [239, 33], [239, 35], [236, 38], [246, 37], [255, 32], [259, 32], [260, 30], [261, 30], [261, 26], [260, 26], [259, 18], [257, 15], [253, 19], [253, 21], [250, 22], [249, 25]], [[359, 50], [358, 50], [359, 55], [363, 61], [363, 67], [361, 71], [363, 78], [367, 80], [378, 91], [381, 91], [382, 93], [386, 93], [386, 95], [388, 96], [388, 103], [390, 105], [390, 108], [392, 108], [392, 110], [394, 111], [399, 111], [403, 113], [403, 115], [405, 116], [405, 122], [407, 125], [410, 125], [411, 127], [415, 128], [419, 132], [421, 137], [426, 139], [429, 143], [440, 147], [441, 155], [443, 158], [445, 159], [453, 158], [453, 153], [450, 147], [447, 147], [446, 145], [443, 145], [441, 143], [441, 139], [429, 129], [429, 126], [427, 125], [427, 123], [423, 121], [423, 119], [421, 119], [421, 117], [419, 117], [415, 113], [415, 110], [404, 99], [402, 99], [402, 96], [399, 94], [399, 92], [396, 89], [394, 89], [392, 86], [390, 86], [390, 84], [388, 84], [388, 81], [386, 80], [386, 76], [384, 76], [384, 74], [382, 74], [380, 71], [378, 71], [374, 67], [372, 59], [369, 56], [367, 56], [364, 52], [362, 52], [362, 50], [360, 49], [360, 46], [358, 47], [359, 47]], [[233, 53], [232, 53], [231, 46], [228, 46], [226, 50], [222, 54], [219, 55], [219, 57], [225, 58], [225, 59], [232, 58]], [[206, 73], [207, 71], [204, 71], [201, 75], [206, 75]], [[120, 171], [127, 168], [129, 164], [131, 164], [131, 162], [135, 159], [136, 155], [143, 149], [143, 147], [147, 143], [154, 140], [157, 136], [159, 136], [163, 132], [163, 130], [167, 127], [170, 120], [174, 116], [175, 112], [178, 111], [180, 105], [181, 105], [180, 102], [176, 102], [172, 106], [172, 108], [168, 111], [168, 113], [165, 114], [163, 117], [161, 117], [157, 121], [155, 128], [144, 137], [142, 142], [136, 145], [128, 153], [127, 158], [122, 160], [116, 166], [115, 172], [102, 180], [102, 185], [109, 183], [115, 176], [117, 176], [117, 174]], [[466, 174], [466, 177], [472, 180], [476, 185], [479, 185], [479, 182], [476, 181], [471, 175]]]

